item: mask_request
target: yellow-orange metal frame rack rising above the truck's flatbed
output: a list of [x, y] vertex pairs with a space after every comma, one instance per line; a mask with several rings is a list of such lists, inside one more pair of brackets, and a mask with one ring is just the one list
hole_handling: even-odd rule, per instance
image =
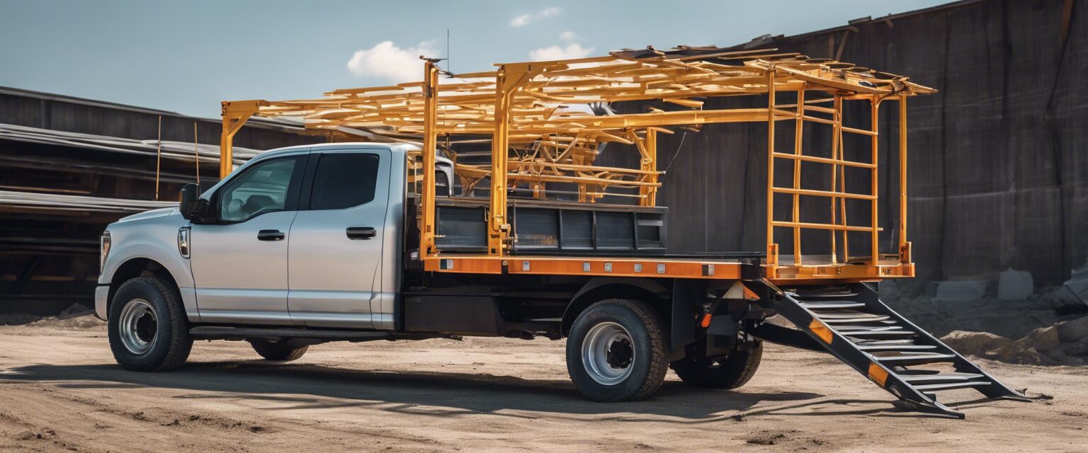
[[[904, 76], [777, 49], [715, 47], [622, 50], [457, 75], [441, 70], [436, 60], [423, 66], [423, 81], [341, 89], [311, 100], [223, 102], [222, 176], [232, 171], [232, 140], [246, 119], [301, 116], [316, 131], [333, 135], [346, 127], [422, 144], [415, 167], [422, 181], [416, 185], [419, 259], [428, 270], [597, 273], [597, 264], [618, 263], [631, 274], [668, 264], [667, 276], [705, 278], [713, 260], [664, 254], [659, 135], [716, 123], [764, 123], [764, 277], [861, 281], [914, 276], [906, 240], [906, 98], [935, 90]], [[442, 75], [449, 80], [440, 84]], [[756, 101], [714, 99], [739, 97]], [[898, 104], [899, 225], [887, 232], [898, 250], [881, 253], [878, 119], [887, 101]], [[611, 109], [622, 103], [638, 103], [641, 110]], [[857, 139], [869, 152], [848, 152], [844, 142]], [[638, 167], [596, 165], [605, 143], [636, 152]], [[445, 183], [453, 197], [441, 200], [435, 150], [454, 161], [457, 179]], [[821, 176], [803, 179], [812, 167], [821, 168]], [[803, 218], [811, 211], [802, 210], [803, 200], [823, 200], [823, 214]], [[814, 240], [804, 231], [825, 236]], [[818, 250], [803, 253], [803, 236]], [[786, 253], [780, 241], [788, 246]], [[586, 259], [564, 261], [579, 255]], [[737, 254], [742, 255], [764, 252]], [[594, 256], [615, 260], [598, 263], [590, 260]], [[515, 257], [522, 264], [514, 264]]]

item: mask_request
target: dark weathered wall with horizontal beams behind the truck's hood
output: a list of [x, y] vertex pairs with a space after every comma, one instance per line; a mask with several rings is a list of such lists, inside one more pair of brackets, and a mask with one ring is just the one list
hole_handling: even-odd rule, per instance
[[[172, 112], [103, 101], [0, 88], [0, 123], [97, 136], [219, 144], [221, 124]], [[326, 141], [248, 123], [235, 144], [272, 149]], [[14, 160], [18, 158], [18, 160]], [[17, 163], [16, 163], [17, 162]], [[153, 154], [0, 138], [0, 190], [151, 200]], [[160, 199], [176, 199], [196, 178], [190, 162], [163, 160]], [[201, 161], [202, 183], [217, 180], [219, 162]], [[72, 303], [89, 305], [98, 276], [98, 237], [124, 213], [0, 209], [0, 313], [55, 314]]]

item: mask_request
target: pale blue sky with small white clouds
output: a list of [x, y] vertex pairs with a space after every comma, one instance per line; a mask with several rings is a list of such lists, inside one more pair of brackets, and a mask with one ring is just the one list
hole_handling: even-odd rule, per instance
[[[421, 73], [653, 45], [731, 46], [944, 1], [0, 0], [0, 86], [219, 116]], [[418, 66], [418, 67], [417, 67]]]

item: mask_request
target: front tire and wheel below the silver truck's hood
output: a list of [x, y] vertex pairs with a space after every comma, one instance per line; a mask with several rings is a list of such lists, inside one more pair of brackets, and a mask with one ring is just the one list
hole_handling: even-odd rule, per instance
[[185, 363], [193, 349], [182, 295], [158, 277], [136, 277], [121, 285], [110, 304], [108, 336], [113, 358], [134, 372], [169, 372]]

